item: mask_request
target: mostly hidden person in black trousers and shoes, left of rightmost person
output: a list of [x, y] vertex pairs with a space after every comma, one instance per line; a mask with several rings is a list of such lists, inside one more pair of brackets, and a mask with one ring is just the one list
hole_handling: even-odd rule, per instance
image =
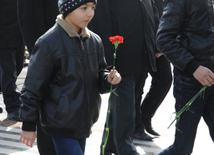
[[[163, 12], [163, 0], [154, 0], [152, 1], [152, 4], [155, 29], [157, 30], [159, 19]], [[142, 104], [141, 100], [145, 78], [136, 79], [135, 81], [135, 85], [140, 85], [141, 89], [136, 90], [136, 129], [133, 135], [134, 139], [152, 140], [152, 137], [148, 136], [144, 129], [152, 135], [159, 136], [159, 133], [154, 131], [152, 128], [151, 120], [170, 89], [172, 73], [169, 61], [158, 50], [156, 50], [156, 66], [156, 72], [149, 71], [149, 74], [152, 77], [152, 82], [150, 90], [143, 99]]]

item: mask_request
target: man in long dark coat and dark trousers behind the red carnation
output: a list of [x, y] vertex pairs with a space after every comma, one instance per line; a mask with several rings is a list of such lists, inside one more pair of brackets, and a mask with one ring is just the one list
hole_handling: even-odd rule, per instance
[[114, 49], [108, 38], [114, 35], [124, 37], [116, 58], [116, 69], [122, 80], [116, 89], [119, 97], [110, 96], [110, 135], [105, 155], [138, 154], [132, 141], [135, 130], [135, 78], [146, 78], [149, 70], [156, 70], [153, 16], [151, 1], [100, 0], [89, 24], [89, 29], [103, 40], [109, 67], [112, 66]]

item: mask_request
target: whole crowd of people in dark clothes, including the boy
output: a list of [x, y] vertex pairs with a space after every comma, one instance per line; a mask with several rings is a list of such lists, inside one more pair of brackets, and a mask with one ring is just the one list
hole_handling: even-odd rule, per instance
[[[214, 141], [214, 8], [203, 0], [7, 0], [0, 2], [0, 92], [6, 120], [22, 121], [21, 141], [41, 155], [83, 155], [110, 88], [105, 155], [139, 154], [133, 139], [161, 136], [152, 118], [172, 83], [176, 124], [159, 155], [190, 155], [201, 117]], [[109, 37], [120, 35], [116, 70]], [[30, 54], [22, 90], [16, 79]], [[152, 81], [142, 99], [148, 74]], [[0, 109], [0, 112], [2, 109]], [[107, 124], [105, 124], [107, 126]], [[103, 127], [100, 155], [106, 139]], [[180, 132], [182, 131], [182, 132]]]

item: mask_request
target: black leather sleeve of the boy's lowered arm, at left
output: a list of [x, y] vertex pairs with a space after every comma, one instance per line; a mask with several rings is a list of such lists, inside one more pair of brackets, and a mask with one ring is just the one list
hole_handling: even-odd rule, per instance
[[34, 131], [39, 120], [39, 110], [45, 90], [53, 71], [53, 58], [47, 43], [41, 39], [35, 44], [24, 83], [24, 94], [20, 99], [20, 118], [23, 120], [22, 129]]

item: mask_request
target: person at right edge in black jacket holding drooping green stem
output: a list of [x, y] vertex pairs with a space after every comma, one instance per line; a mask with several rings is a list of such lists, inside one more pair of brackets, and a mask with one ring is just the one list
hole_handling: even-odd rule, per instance
[[176, 113], [202, 87], [208, 87], [180, 116], [174, 143], [159, 155], [190, 155], [202, 117], [214, 141], [213, 10], [213, 0], [166, 1], [157, 32], [157, 47], [174, 65]]

